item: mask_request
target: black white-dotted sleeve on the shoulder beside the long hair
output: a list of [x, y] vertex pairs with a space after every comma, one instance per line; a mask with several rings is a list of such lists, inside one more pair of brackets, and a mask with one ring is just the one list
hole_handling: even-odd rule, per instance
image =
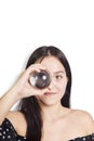
[[16, 141], [16, 137], [12, 124], [5, 118], [0, 126], [0, 141]]

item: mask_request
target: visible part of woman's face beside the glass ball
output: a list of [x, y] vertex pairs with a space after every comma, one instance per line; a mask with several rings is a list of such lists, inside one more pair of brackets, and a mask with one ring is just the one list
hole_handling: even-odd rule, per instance
[[46, 56], [41, 61], [41, 65], [49, 70], [52, 77], [50, 86], [46, 88], [46, 92], [38, 97], [38, 100], [45, 105], [53, 105], [61, 103], [68, 78], [66, 76], [65, 67], [55, 56]]

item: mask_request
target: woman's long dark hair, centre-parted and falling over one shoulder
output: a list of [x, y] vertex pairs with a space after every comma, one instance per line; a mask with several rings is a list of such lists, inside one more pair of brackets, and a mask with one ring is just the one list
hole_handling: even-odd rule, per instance
[[[38, 59], [43, 59], [48, 55], [53, 55], [57, 57], [65, 67], [68, 82], [61, 103], [65, 107], [70, 107], [71, 70], [65, 54], [58, 48], [53, 46], [39, 47], [29, 56], [26, 68], [33, 64]], [[27, 141], [40, 141], [42, 137], [42, 117], [41, 108], [37, 98], [32, 95], [22, 99], [19, 103], [19, 111], [24, 114], [27, 121]]]

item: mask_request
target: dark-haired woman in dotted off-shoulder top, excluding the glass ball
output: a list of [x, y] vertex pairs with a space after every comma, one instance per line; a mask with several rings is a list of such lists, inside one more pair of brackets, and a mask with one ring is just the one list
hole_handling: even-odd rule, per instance
[[[51, 84], [30, 85], [33, 72], [48, 70]], [[26, 69], [0, 100], [0, 141], [94, 141], [94, 123], [88, 112], [70, 108], [71, 72], [56, 47], [40, 47]], [[10, 108], [18, 101], [18, 111]]]

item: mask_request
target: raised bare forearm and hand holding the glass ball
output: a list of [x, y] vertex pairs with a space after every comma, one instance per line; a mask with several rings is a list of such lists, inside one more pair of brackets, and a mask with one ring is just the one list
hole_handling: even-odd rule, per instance
[[45, 89], [36, 89], [28, 82], [30, 73], [33, 70], [38, 72], [41, 68], [42, 66], [40, 64], [29, 66], [21, 74], [14, 86], [0, 99], [0, 125], [2, 124], [11, 107], [18, 100], [30, 95], [41, 95], [44, 93]]

